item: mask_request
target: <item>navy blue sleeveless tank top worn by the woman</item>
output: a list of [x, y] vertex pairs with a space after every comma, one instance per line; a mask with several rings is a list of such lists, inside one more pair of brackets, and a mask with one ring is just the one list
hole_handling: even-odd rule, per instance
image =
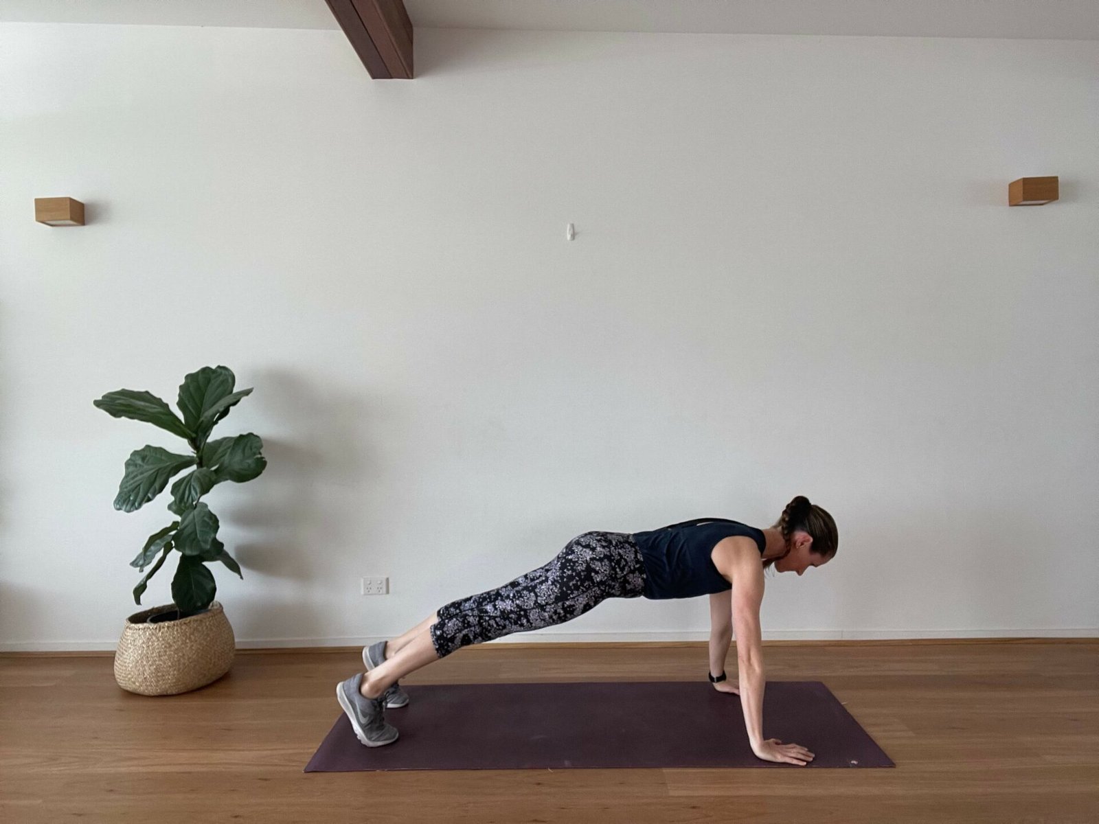
[[729, 519], [699, 517], [681, 524], [632, 534], [645, 561], [645, 598], [695, 598], [732, 589], [710, 553], [722, 538], [747, 535], [763, 555], [767, 538], [763, 530]]

